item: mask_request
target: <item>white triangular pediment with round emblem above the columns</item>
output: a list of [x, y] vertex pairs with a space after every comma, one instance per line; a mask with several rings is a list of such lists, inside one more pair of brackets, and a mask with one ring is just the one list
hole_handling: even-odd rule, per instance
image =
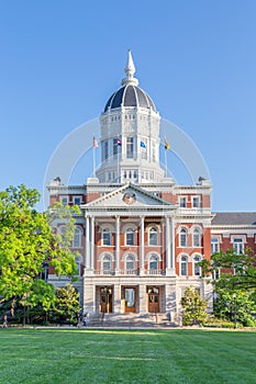
[[96, 199], [94, 201], [85, 204], [82, 208], [122, 208], [122, 210], [136, 210], [136, 208], [160, 208], [175, 207], [174, 204], [160, 199], [154, 193], [144, 190], [142, 187], [134, 184], [125, 184], [118, 188], [110, 193]]

